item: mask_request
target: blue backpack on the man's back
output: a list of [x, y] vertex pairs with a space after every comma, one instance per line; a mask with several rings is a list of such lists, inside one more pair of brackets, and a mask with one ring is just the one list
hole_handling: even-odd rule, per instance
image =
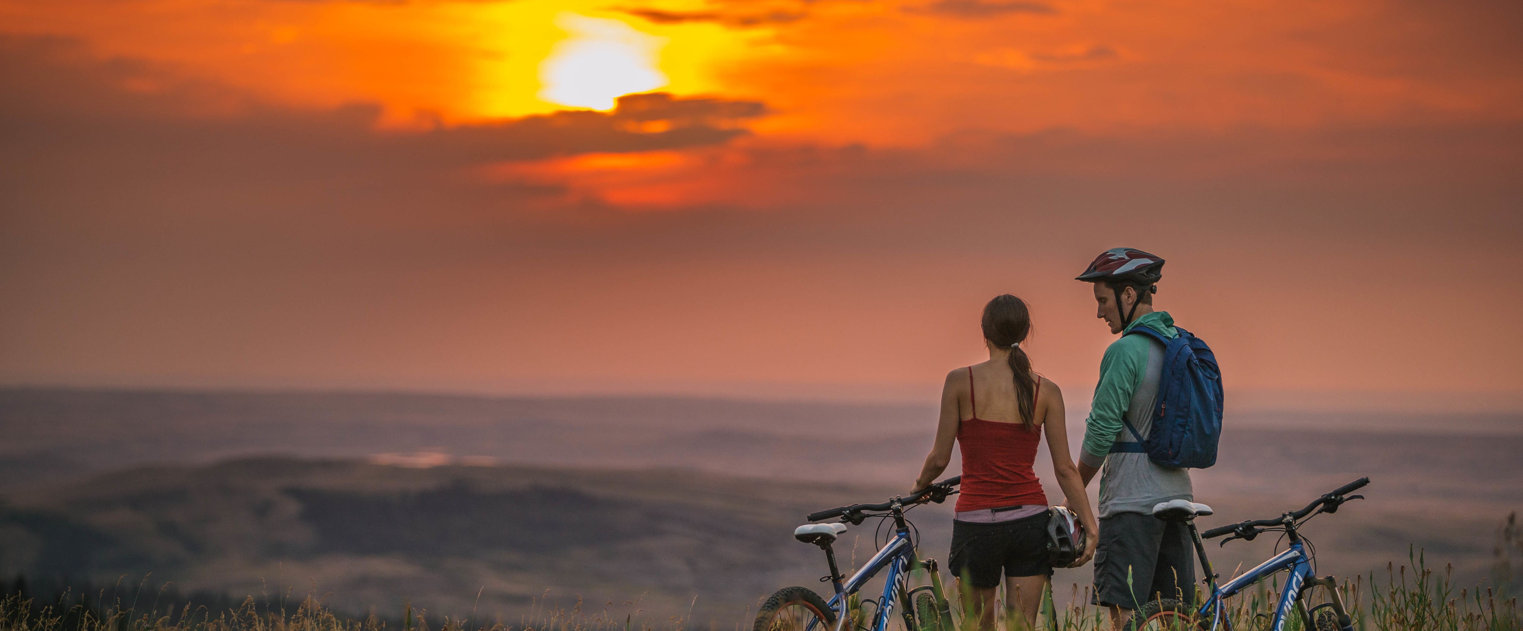
[[1203, 469], [1217, 463], [1217, 442], [1221, 440], [1221, 370], [1211, 346], [1189, 331], [1174, 329], [1179, 337], [1173, 340], [1147, 326], [1127, 331], [1164, 344], [1164, 373], [1159, 375], [1148, 437], [1142, 439], [1125, 418], [1121, 422], [1153, 462]]

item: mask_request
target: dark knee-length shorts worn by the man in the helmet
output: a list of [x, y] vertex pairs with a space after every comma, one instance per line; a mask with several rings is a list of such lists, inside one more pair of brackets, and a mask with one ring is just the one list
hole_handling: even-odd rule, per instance
[[1090, 604], [1139, 610], [1157, 597], [1196, 601], [1196, 547], [1189, 529], [1141, 512], [1100, 520]]

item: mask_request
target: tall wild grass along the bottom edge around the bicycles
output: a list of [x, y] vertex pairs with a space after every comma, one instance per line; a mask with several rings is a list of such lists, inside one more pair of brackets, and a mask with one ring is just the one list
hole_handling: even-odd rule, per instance
[[[1421, 552], [1409, 555], [1409, 564], [1389, 564], [1386, 576], [1371, 573], [1345, 581], [1339, 591], [1349, 605], [1359, 631], [1520, 631], [1517, 597], [1503, 597], [1493, 587], [1456, 587], [1453, 569], [1442, 573], [1429, 569]], [[1502, 585], [1506, 588], [1508, 585]], [[405, 608], [394, 619], [375, 614], [341, 616], [321, 601], [306, 597], [297, 604], [256, 601], [239, 604], [195, 604], [171, 599], [163, 607], [143, 607], [142, 594], [126, 599], [114, 590], [97, 593], [62, 591], [50, 602], [12, 593], [0, 599], [0, 631], [688, 631], [696, 629], [684, 617], [638, 617], [638, 610], [623, 614], [586, 611], [579, 602], [571, 610], [535, 608], [516, 623], [483, 623], [472, 619], [429, 617], [422, 610]], [[1106, 631], [1110, 628], [1104, 611], [1084, 605], [1089, 590], [1072, 587], [1072, 605], [1052, 607], [1051, 593], [1045, 599], [1040, 629]], [[1308, 607], [1322, 602], [1308, 591]], [[1273, 607], [1279, 599], [1278, 581], [1266, 581], [1258, 590], [1231, 601], [1228, 614], [1232, 626], [1244, 631], [1269, 628]], [[612, 605], [612, 604], [609, 604]], [[638, 605], [626, 602], [624, 605]], [[1023, 625], [1020, 625], [1023, 626]], [[711, 628], [704, 625], [705, 629]], [[734, 631], [751, 628], [751, 620], [737, 620]], [[1292, 616], [1287, 631], [1305, 631], [1299, 616]]]

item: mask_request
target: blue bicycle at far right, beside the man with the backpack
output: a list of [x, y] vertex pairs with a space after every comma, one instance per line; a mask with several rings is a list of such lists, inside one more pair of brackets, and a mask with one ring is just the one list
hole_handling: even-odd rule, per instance
[[[1354, 492], [1368, 483], [1369, 479], [1362, 477], [1319, 497], [1301, 511], [1287, 511], [1279, 515], [1279, 518], [1273, 520], [1249, 520], [1214, 527], [1206, 530], [1205, 535], [1196, 530], [1194, 518], [1209, 515], [1209, 506], [1185, 500], [1174, 500], [1154, 506], [1154, 517], [1165, 521], [1188, 524], [1189, 537], [1196, 543], [1196, 553], [1200, 555], [1200, 569], [1205, 570], [1205, 582], [1211, 588], [1211, 594], [1200, 607], [1196, 608], [1186, 607], [1176, 599], [1157, 599], [1148, 602], [1133, 616], [1130, 628], [1139, 631], [1189, 628], [1231, 631], [1232, 620], [1226, 616], [1226, 605], [1223, 601], [1238, 594], [1244, 588], [1269, 578], [1270, 575], [1275, 575], [1276, 572], [1290, 570], [1290, 576], [1285, 579], [1284, 594], [1279, 597], [1278, 607], [1275, 607], [1275, 617], [1270, 620], [1269, 628], [1272, 631], [1282, 631], [1285, 628], [1285, 620], [1290, 619], [1292, 610], [1299, 611], [1302, 628], [1305, 629], [1354, 631], [1354, 620], [1343, 608], [1343, 599], [1337, 593], [1337, 581], [1334, 581], [1333, 576], [1316, 576], [1316, 550], [1308, 546], [1296, 529], [1316, 515], [1323, 512], [1337, 512], [1337, 508], [1345, 501], [1365, 498], [1365, 495], [1349, 495], [1349, 492]], [[1202, 538], [1211, 540], [1221, 535], [1232, 535], [1221, 541], [1221, 544], [1226, 544], [1232, 540], [1253, 541], [1255, 537], [1264, 532], [1284, 532], [1285, 538], [1290, 540], [1290, 547], [1269, 561], [1261, 562], [1258, 567], [1247, 570], [1243, 576], [1228, 581], [1226, 585], [1217, 587], [1217, 575], [1211, 570], [1211, 561], [1206, 558], [1206, 546], [1202, 543]], [[1307, 610], [1305, 594], [1314, 587], [1327, 590], [1328, 602]]]

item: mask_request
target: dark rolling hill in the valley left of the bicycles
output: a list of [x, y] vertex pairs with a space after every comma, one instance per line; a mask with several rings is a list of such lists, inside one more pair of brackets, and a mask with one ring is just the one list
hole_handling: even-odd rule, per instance
[[11, 497], [0, 572], [107, 584], [152, 572], [233, 594], [315, 582], [356, 613], [411, 601], [460, 614], [480, 591], [483, 613], [516, 620], [548, 590], [562, 605], [644, 599], [733, 616], [824, 572], [818, 549], [790, 537], [806, 512], [888, 495], [684, 471], [143, 466]]

